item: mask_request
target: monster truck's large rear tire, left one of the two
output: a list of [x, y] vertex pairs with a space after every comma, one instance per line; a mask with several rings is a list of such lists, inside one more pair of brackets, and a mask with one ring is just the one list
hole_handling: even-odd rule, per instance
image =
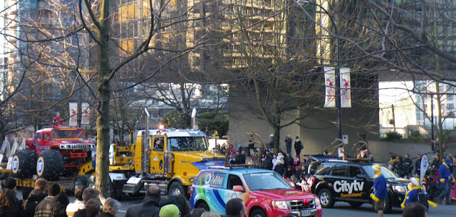
[[36, 154], [33, 150], [19, 150], [13, 156], [12, 171], [14, 178], [30, 178], [36, 170]]

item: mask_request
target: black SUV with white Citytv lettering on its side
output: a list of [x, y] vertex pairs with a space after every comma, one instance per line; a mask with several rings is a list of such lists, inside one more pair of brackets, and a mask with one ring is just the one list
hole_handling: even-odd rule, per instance
[[[367, 162], [348, 162], [330, 160], [318, 166], [316, 174], [311, 177], [311, 192], [318, 195], [323, 208], [331, 208], [336, 201], [345, 201], [353, 207], [363, 203], [373, 203], [369, 196], [373, 191], [373, 164]], [[388, 199], [384, 212], [392, 207], [400, 207], [403, 202], [408, 179], [401, 179], [393, 171], [380, 165], [385, 176]]]

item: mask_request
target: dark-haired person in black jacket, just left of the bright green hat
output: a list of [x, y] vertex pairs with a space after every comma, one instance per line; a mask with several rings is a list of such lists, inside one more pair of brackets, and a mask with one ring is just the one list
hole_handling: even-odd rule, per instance
[[160, 213], [160, 189], [157, 186], [150, 186], [145, 193], [142, 203], [135, 204], [128, 208], [125, 217], [155, 217]]

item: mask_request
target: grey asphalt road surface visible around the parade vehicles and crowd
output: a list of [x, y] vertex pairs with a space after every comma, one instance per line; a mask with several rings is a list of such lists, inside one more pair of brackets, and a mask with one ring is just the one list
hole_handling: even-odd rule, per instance
[[[18, 190], [17, 197], [21, 199], [21, 190]], [[68, 196], [70, 202], [73, 202], [76, 198], [74, 196]], [[141, 203], [142, 197], [125, 197], [120, 200], [119, 213], [116, 217], [125, 216], [127, 209], [136, 203]], [[372, 206], [369, 204], [363, 204], [358, 208], [352, 208], [348, 203], [345, 202], [336, 202], [333, 208], [323, 208], [323, 216], [331, 217], [377, 217], [377, 213], [373, 210]], [[385, 213], [385, 217], [389, 216], [402, 216], [402, 209], [393, 208], [393, 211], [390, 213]], [[429, 212], [427, 212], [428, 217], [449, 217], [456, 216], [456, 205], [441, 205], [438, 204], [437, 208], [430, 207]], [[276, 217], [276, 216], [272, 216]]]

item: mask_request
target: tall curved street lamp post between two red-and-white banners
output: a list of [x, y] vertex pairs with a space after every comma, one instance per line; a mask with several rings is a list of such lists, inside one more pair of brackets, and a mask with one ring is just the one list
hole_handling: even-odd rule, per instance
[[336, 79], [335, 79], [336, 91], [334, 92], [334, 97], [336, 99], [336, 107], [337, 107], [338, 138], [342, 139], [342, 111], [341, 111], [341, 86], [340, 86], [341, 81], [339, 80], [339, 78], [341, 76], [341, 70], [340, 70], [341, 67], [340, 67], [340, 63], [339, 63], [339, 34], [337, 31], [336, 23], [334, 22], [331, 14], [329, 14], [328, 11], [326, 11], [326, 9], [324, 9], [321, 5], [311, 2], [311, 1], [307, 1], [307, 0], [297, 0], [296, 3], [303, 11], [304, 11], [304, 8], [303, 8], [303, 6], [301, 6], [300, 3], [313, 4], [315, 6], [318, 6], [320, 9], [325, 11], [325, 14], [328, 14], [328, 17], [331, 20], [331, 23], [333, 24], [334, 32], [336, 35]]

